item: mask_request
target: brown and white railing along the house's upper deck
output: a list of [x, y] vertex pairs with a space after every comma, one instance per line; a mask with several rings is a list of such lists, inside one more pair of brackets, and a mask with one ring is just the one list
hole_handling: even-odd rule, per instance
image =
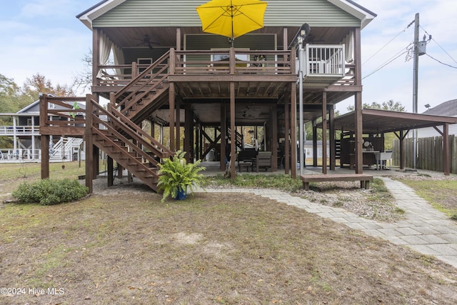
[[[169, 67], [162, 74], [296, 74], [294, 50], [186, 50], [170, 49]], [[171, 60], [173, 56], [173, 60]], [[341, 76], [342, 84], [353, 84], [353, 65], [345, 65], [343, 45], [306, 45], [307, 76]], [[96, 86], [126, 86], [150, 66], [123, 64], [99, 66]], [[154, 71], [151, 71], [154, 72]]]

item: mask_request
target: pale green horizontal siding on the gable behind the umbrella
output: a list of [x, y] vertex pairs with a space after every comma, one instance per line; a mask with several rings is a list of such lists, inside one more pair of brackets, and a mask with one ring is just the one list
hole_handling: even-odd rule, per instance
[[[94, 20], [94, 27], [201, 26], [196, 7], [206, 0], [127, 0]], [[326, 0], [267, 1], [264, 26], [360, 26]]]

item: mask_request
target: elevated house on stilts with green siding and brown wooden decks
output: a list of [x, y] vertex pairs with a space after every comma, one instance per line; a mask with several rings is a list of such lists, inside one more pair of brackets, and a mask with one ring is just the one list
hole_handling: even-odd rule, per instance
[[[376, 14], [351, 0], [270, 0], [263, 28], [232, 44], [202, 31], [196, 7], [204, 2], [104, 0], [76, 16], [93, 36], [92, 94], [82, 99], [84, 116], [72, 116], [75, 109], [69, 108], [59, 113], [68, 120], [57, 123], [46, 119], [56, 111], [48, 104], [68, 103], [41, 96], [41, 147], [49, 147], [51, 135], [84, 137], [91, 191], [100, 150], [109, 156], [109, 184], [116, 161], [156, 190], [157, 164], [179, 149], [190, 161], [204, 159], [213, 149], [221, 156], [221, 171], [229, 164], [234, 176], [236, 155], [243, 149], [238, 126], [261, 128], [261, 149], [271, 151], [271, 170], [281, 162], [286, 174], [296, 177], [296, 34], [305, 23], [311, 31], [303, 37], [303, 118], [328, 118], [333, 131], [335, 104], [353, 97], [355, 139], [362, 144], [361, 30]], [[109, 100], [106, 108], [99, 104], [102, 98]], [[169, 129], [169, 144], [143, 131], [144, 121]], [[208, 126], [214, 135], [207, 134]], [[183, 143], [179, 127], [184, 127]], [[361, 145], [356, 147], [355, 171], [361, 173]], [[46, 149], [45, 178], [49, 164], [43, 156]]]

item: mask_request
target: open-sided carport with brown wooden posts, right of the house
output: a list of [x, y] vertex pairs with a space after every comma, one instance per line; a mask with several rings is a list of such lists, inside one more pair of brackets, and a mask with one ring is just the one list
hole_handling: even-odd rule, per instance
[[[450, 153], [449, 153], [449, 124], [457, 124], [457, 117], [454, 116], [433, 116], [428, 114], [411, 114], [407, 112], [386, 111], [378, 109], [362, 109], [362, 133], [363, 134], [386, 134], [393, 132], [400, 140], [400, 168], [404, 169], [403, 140], [412, 129], [433, 127], [443, 136], [443, 172], [450, 174]], [[355, 114], [350, 112], [336, 116], [329, 121], [331, 130], [355, 132]], [[438, 129], [443, 126], [443, 130]], [[321, 126], [319, 126], [321, 127]], [[331, 143], [331, 150], [335, 150], [335, 144]], [[361, 143], [357, 145], [356, 154], [362, 154]], [[335, 156], [335, 154], [331, 154]], [[361, 156], [359, 156], [361, 160]], [[331, 162], [332, 163], [332, 162]], [[334, 163], [333, 163], [334, 164]]]

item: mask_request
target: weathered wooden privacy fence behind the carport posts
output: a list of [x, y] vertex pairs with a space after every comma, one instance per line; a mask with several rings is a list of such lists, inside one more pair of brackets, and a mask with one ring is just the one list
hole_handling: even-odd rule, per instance
[[[418, 138], [418, 155], [416, 167], [430, 171], [443, 171], [443, 136]], [[403, 161], [406, 168], [413, 168], [413, 139], [403, 140]], [[457, 137], [449, 136], [449, 155], [451, 156], [451, 173], [457, 174]], [[400, 166], [400, 140], [394, 139], [392, 146], [392, 164]]]

